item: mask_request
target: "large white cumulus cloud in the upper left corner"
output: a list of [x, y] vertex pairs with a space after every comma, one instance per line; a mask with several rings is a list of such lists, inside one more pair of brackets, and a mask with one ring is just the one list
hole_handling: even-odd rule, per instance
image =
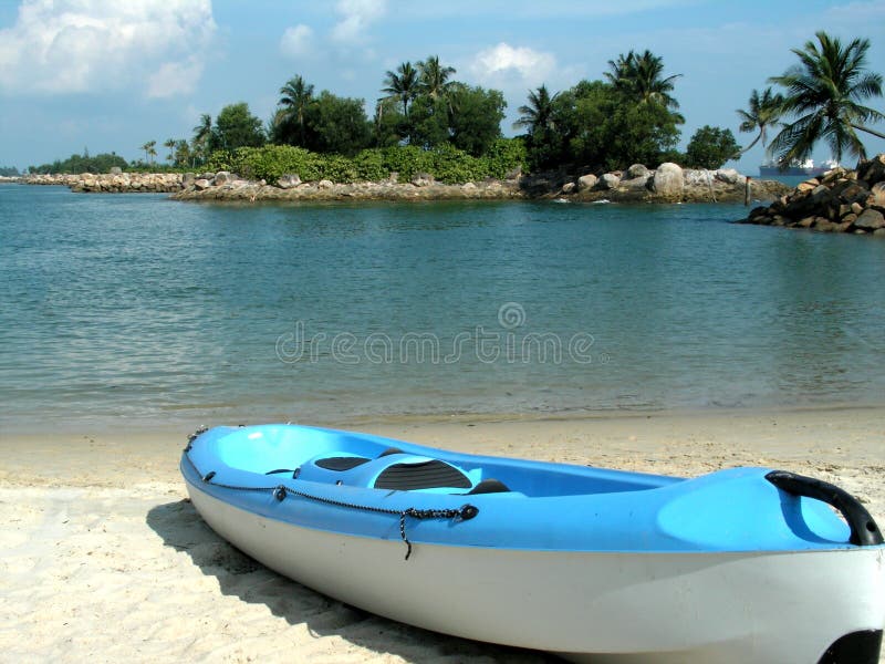
[[211, 0], [24, 0], [0, 30], [0, 91], [187, 93], [215, 30]]

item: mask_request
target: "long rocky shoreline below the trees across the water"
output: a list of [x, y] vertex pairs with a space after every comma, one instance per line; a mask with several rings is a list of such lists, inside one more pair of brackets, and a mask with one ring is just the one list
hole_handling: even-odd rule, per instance
[[[174, 200], [209, 203], [302, 203], [302, 201], [436, 201], [436, 200], [563, 200], [575, 203], [761, 203], [774, 200], [790, 190], [775, 180], [752, 179], [735, 169], [677, 172], [675, 183], [665, 187], [654, 170], [644, 166], [633, 176], [613, 172], [577, 177], [566, 174], [538, 174], [512, 179], [488, 178], [464, 184], [444, 184], [421, 174], [412, 181], [396, 178], [383, 181], [333, 183], [301, 181], [298, 176], [283, 176], [278, 183], [243, 179], [228, 172], [166, 174], [82, 174], [32, 175], [19, 179], [32, 186], [66, 186], [84, 194], [166, 193]], [[748, 193], [748, 180], [751, 191]]]

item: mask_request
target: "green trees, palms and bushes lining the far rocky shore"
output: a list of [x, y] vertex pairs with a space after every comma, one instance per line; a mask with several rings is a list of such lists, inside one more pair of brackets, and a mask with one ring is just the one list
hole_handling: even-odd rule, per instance
[[[864, 156], [856, 132], [879, 137], [871, 123], [883, 113], [861, 102], [882, 95], [882, 76], [866, 71], [868, 40], [846, 46], [824, 32], [818, 43], [794, 49], [800, 64], [770, 81], [784, 89], [753, 90], [748, 108], [739, 110], [739, 131], [754, 132], [741, 149], [728, 128], [705, 125], [676, 151], [685, 118], [678, 112], [676, 81], [664, 61], [648, 50], [631, 50], [610, 60], [600, 80], [584, 80], [552, 93], [545, 85], [530, 91], [513, 127], [524, 132], [506, 139], [500, 124], [507, 102], [498, 90], [455, 80], [457, 71], [437, 55], [387, 71], [374, 114], [361, 98], [342, 97], [294, 75], [280, 89], [267, 123], [246, 102], [229, 104], [217, 115], [202, 114], [190, 141], [169, 137], [167, 153], [155, 163], [157, 142], [140, 146], [137, 170], [229, 169], [274, 181], [284, 174], [302, 179], [348, 183], [382, 180], [398, 173], [402, 180], [427, 173], [446, 183], [503, 177], [523, 168], [600, 172], [632, 164], [655, 167], [677, 162], [687, 167], [718, 168], [737, 159], [768, 132], [780, 132], [768, 145], [782, 165], [810, 156], [819, 141], [833, 156]], [[791, 122], [785, 122], [790, 120]], [[113, 157], [114, 159], [110, 159]], [[115, 155], [72, 156], [32, 172], [103, 173], [126, 167]]]

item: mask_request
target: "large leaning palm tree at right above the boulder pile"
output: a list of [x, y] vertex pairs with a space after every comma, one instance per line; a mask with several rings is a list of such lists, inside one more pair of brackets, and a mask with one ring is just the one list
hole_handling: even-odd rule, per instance
[[787, 91], [781, 105], [784, 115], [796, 116], [771, 143], [781, 165], [810, 157], [819, 141], [827, 143], [836, 160], [844, 153], [865, 158], [866, 149], [855, 129], [885, 138], [885, 134], [865, 126], [885, 120], [885, 115], [861, 104], [882, 96], [882, 75], [865, 66], [870, 40], [855, 39], [843, 48], [839, 39], [823, 31], [815, 37], [816, 44], [808, 41], [803, 49], [792, 49], [800, 64], [769, 79]]

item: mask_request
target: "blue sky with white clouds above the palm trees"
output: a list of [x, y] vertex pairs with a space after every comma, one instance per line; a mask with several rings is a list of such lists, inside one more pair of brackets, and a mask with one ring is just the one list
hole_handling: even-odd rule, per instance
[[[629, 49], [681, 74], [683, 146], [705, 124], [748, 144], [735, 110], [818, 30], [871, 39], [868, 65], [885, 74], [885, 0], [0, 0], [0, 166], [84, 148], [134, 159], [240, 101], [267, 120], [294, 74], [371, 107], [386, 70], [427, 55], [503, 91], [512, 135], [528, 90], [600, 79]], [[822, 145], [815, 158], [826, 157]], [[754, 148], [738, 166], [754, 175], [762, 158]]]

